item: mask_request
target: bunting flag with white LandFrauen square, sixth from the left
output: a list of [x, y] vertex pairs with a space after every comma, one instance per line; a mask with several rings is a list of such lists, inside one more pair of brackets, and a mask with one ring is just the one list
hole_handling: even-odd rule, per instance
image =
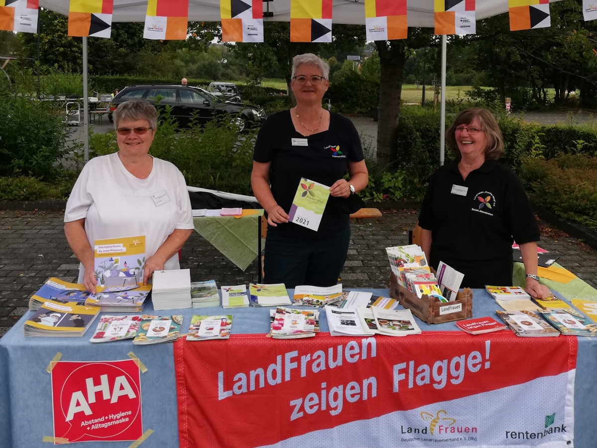
[[365, 0], [365, 29], [369, 41], [407, 38], [407, 0]]

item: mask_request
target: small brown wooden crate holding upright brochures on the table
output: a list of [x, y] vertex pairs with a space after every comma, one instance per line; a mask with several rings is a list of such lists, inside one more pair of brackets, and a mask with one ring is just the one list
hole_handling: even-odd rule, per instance
[[458, 292], [454, 302], [440, 302], [437, 297], [416, 294], [398, 284], [398, 279], [390, 272], [390, 297], [398, 299], [404, 308], [410, 309], [416, 317], [427, 324], [441, 324], [473, 317], [473, 291], [464, 288]]

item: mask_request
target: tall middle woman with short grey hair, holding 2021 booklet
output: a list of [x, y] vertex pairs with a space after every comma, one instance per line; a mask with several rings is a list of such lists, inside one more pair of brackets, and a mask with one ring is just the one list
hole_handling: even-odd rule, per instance
[[317, 231], [288, 222], [303, 177], [329, 186], [333, 198], [347, 198], [367, 185], [354, 125], [322, 108], [329, 73], [328, 64], [314, 54], [295, 56], [290, 87], [296, 106], [267, 118], [257, 137], [251, 185], [267, 214], [266, 283], [333, 286], [346, 260], [349, 214], [333, 210], [332, 198]]

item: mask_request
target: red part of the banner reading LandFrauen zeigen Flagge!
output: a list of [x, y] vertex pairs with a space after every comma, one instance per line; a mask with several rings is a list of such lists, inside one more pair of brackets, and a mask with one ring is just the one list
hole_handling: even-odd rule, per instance
[[[523, 338], [507, 330], [479, 336], [424, 332], [353, 338], [321, 333], [302, 340], [264, 335], [199, 343], [180, 339], [174, 346], [180, 446], [266, 446], [543, 377], [558, 378], [566, 394], [566, 378], [574, 382], [576, 349], [576, 337]], [[541, 419], [547, 411], [552, 409], [538, 411]], [[558, 409], [554, 421], [564, 413]], [[443, 414], [429, 409], [420, 415], [423, 421], [432, 420], [423, 434], [441, 432], [434, 418]], [[561, 432], [566, 431], [562, 424]]]

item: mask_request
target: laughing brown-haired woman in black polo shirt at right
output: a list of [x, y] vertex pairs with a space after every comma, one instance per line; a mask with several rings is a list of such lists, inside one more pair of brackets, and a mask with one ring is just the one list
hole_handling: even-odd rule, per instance
[[512, 286], [512, 243], [519, 244], [525, 289], [547, 297], [538, 283], [535, 214], [520, 180], [498, 162], [504, 139], [496, 118], [485, 109], [458, 113], [446, 131], [456, 161], [433, 173], [418, 225], [421, 247], [437, 269], [440, 261], [464, 274], [463, 287]]

